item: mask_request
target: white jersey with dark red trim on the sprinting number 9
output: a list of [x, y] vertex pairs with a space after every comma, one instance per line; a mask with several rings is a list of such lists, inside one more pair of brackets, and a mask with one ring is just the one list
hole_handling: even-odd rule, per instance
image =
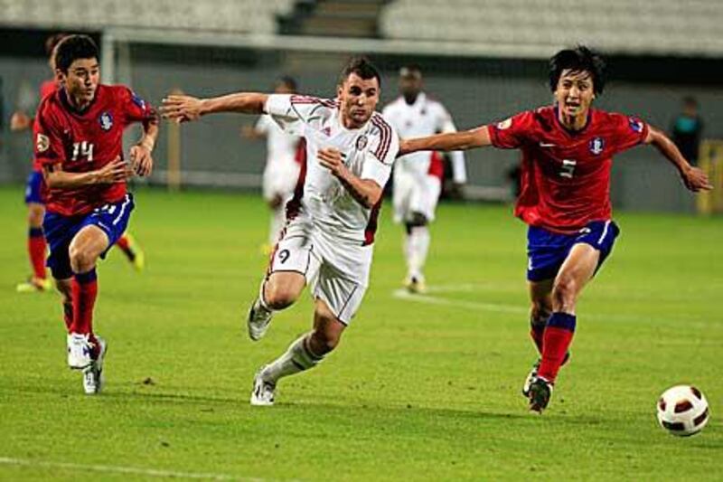
[[354, 175], [384, 187], [399, 152], [394, 128], [378, 112], [362, 128], [344, 128], [334, 99], [273, 94], [268, 96], [265, 110], [286, 133], [306, 140], [306, 165], [299, 176], [303, 189], [297, 189], [287, 216], [294, 216], [296, 209], [309, 216], [316, 229], [360, 246], [371, 244], [380, 205], [367, 209], [358, 203], [319, 163], [317, 153], [324, 147], [338, 149]]

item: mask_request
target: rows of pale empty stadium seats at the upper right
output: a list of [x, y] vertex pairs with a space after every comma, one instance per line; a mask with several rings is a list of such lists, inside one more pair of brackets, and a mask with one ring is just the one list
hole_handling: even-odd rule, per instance
[[[651, 11], [654, 14], [651, 14]], [[398, 0], [380, 16], [391, 39], [549, 45], [607, 52], [723, 53], [720, 0]]]

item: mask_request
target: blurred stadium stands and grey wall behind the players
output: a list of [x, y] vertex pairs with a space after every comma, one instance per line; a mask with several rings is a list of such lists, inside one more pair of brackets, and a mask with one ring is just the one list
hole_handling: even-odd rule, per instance
[[[609, 61], [609, 90], [598, 107], [668, 130], [681, 99], [694, 96], [704, 136], [723, 138], [719, 0], [0, 0], [2, 183], [20, 183], [29, 172], [31, 139], [11, 134], [8, 119], [14, 109], [34, 109], [37, 86], [49, 76], [43, 41], [59, 31], [92, 33], [103, 80], [127, 83], [156, 105], [174, 89], [270, 90], [281, 73], [305, 93], [333, 96], [340, 66], [358, 52], [380, 65], [386, 102], [397, 95], [399, 66], [414, 61], [458, 128], [548, 103], [546, 59], [587, 43]], [[209, 118], [183, 137], [164, 127], [150, 182], [167, 183], [169, 164], [173, 173], [177, 163], [185, 185], [258, 188], [265, 146], [239, 137], [250, 122]], [[715, 164], [718, 148], [710, 153]], [[512, 198], [508, 172], [517, 152], [467, 158], [469, 198]], [[678, 184], [653, 149], [635, 149], [615, 163], [613, 200], [626, 210], [693, 212], [694, 198]]]

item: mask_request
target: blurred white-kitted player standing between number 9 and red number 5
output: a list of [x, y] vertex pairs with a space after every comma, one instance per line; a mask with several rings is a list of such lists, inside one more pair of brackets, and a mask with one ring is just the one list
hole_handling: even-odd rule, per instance
[[[402, 138], [456, 132], [445, 107], [422, 91], [422, 72], [416, 65], [399, 70], [398, 99], [384, 108], [383, 114]], [[455, 184], [467, 180], [465, 156], [451, 153]], [[416, 152], [399, 157], [394, 165], [394, 221], [403, 222], [407, 235], [404, 255], [407, 259], [405, 285], [413, 293], [425, 290], [424, 264], [429, 250], [428, 224], [435, 219], [435, 209], [442, 190], [444, 164], [435, 152]]]

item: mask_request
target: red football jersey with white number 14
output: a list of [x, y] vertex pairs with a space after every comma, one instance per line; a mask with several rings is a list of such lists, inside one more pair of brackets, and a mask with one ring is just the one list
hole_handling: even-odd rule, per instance
[[[35, 159], [41, 165], [61, 163], [70, 173], [95, 171], [123, 156], [123, 131], [129, 124], [153, 119], [154, 109], [125, 86], [99, 85], [95, 99], [81, 112], [58, 89], [42, 99], [35, 116]], [[49, 189], [46, 208], [65, 216], [83, 214], [125, 194], [125, 182]]]

